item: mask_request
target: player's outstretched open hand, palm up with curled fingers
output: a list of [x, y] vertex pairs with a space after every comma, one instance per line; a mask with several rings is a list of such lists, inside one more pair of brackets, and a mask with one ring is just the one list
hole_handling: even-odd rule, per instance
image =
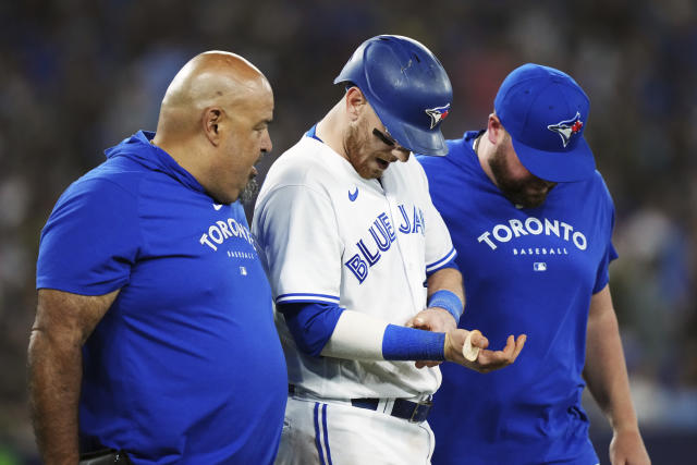
[[445, 333], [444, 354], [448, 362], [454, 362], [479, 372], [489, 372], [508, 367], [515, 362], [518, 354], [525, 345], [527, 335], [521, 334], [517, 339], [513, 334], [509, 335], [505, 347], [501, 351], [487, 350], [489, 340], [479, 331], [472, 334], [472, 346], [479, 347], [479, 355], [474, 362], [469, 362], [462, 353], [465, 339], [469, 331], [465, 329], [456, 329]]

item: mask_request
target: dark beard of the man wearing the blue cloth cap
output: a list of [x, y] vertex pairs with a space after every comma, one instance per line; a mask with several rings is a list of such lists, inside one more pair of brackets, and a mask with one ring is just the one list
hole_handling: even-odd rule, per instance
[[547, 195], [553, 187], [549, 187], [545, 193], [529, 193], [528, 187], [545, 185], [545, 181], [531, 173], [528, 178], [522, 180], [514, 179], [506, 163], [505, 148], [503, 145], [496, 148], [493, 156], [489, 159], [489, 167], [503, 196], [511, 200], [516, 207], [539, 207], [547, 200]]

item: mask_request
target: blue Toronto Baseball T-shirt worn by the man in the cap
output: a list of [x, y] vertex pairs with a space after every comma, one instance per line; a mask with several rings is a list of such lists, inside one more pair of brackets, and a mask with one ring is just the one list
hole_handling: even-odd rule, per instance
[[484, 172], [477, 132], [448, 140], [445, 157], [418, 157], [458, 252], [466, 307], [460, 327], [493, 348], [527, 334], [515, 364], [478, 374], [441, 366], [429, 424], [432, 463], [594, 465], [585, 383], [592, 294], [608, 284], [614, 207], [600, 173], [558, 184], [538, 208], [517, 209]]

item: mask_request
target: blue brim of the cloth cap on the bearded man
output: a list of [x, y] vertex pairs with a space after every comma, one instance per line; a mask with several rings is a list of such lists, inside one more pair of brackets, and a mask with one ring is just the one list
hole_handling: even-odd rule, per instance
[[521, 163], [537, 178], [565, 183], [585, 181], [596, 171], [596, 160], [586, 139], [580, 137], [568, 151], [547, 151], [511, 138]]

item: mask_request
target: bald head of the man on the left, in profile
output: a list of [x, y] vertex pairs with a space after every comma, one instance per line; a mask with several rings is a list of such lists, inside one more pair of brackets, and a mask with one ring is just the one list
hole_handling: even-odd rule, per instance
[[172, 79], [152, 143], [217, 203], [229, 204], [252, 185], [254, 164], [271, 150], [272, 118], [273, 93], [264, 74], [237, 54], [208, 51]]

